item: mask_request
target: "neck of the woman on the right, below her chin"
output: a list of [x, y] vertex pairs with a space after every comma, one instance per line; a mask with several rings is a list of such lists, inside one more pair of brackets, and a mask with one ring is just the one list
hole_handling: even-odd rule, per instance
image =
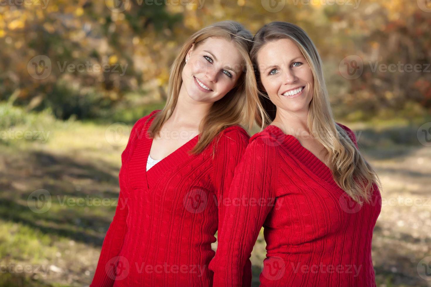
[[272, 124], [279, 127], [287, 135], [297, 138], [302, 135], [308, 135], [308, 112], [308, 109], [291, 112], [277, 108]]

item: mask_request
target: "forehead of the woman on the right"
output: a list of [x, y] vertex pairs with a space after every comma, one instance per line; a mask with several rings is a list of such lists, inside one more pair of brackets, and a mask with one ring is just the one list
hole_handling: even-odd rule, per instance
[[303, 57], [303, 54], [294, 40], [291, 39], [270, 41], [265, 43], [257, 52], [259, 65], [280, 65], [298, 57]]

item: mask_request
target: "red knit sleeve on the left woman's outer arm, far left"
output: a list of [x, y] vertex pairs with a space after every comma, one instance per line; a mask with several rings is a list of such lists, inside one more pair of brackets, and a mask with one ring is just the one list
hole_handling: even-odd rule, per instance
[[[121, 154], [122, 165], [125, 163], [125, 160], [127, 160], [134, 141], [144, 136], [141, 127], [150, 115], [142, 117], [134, 124], [126, 148]], [[116, 276], [114, 275], [112, 265], [115, 266], [118, 261], [116, 256], [120, 253], [126, 232], [126, 219], [128, 215], [127, 200], [128, 198], [125, 196], [125, 192], [120, 190], [115, 214], [106, 232], [105, 239], [103, 240], [99, 262], [97, 263], [96, 272], [94, 273], [94, 278], [90, 287], [111, 287], [114, 284]]]

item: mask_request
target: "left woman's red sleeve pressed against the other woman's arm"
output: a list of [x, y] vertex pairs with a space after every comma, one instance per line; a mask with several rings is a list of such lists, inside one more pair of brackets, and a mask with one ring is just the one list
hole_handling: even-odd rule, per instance
[[[248, 133], [239, 128], [222, 134], [217, 147], [217, 158], [214, 168], [214, 184], [217, 191], [217, 201], [219, 202], [218, 216], [219, 226], [217, 232], [217, 242], [222, 240], [222, 224], [225, 215], [225, 206], [223, 202], [228, 197], [229, 187], [234, 177], [234, 170], [242, 158], [250, 136]], [[244, 286], [251, 285], [251, 261], [247, 260], [244, 265]]]

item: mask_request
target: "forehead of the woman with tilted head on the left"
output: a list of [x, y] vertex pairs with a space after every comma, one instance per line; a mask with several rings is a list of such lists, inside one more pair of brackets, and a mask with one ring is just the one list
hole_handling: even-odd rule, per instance
[[203, 43], [200, 43], [196, 49], [199, 52], [211, 52], [217, 58], [217, 62], [221, 62], [223, 65], [230, 65], [235, 70], [237, 69], [236, 67], [241, 65], [243, 62], [243, 56], [238, 50], [237, 45], [224, 38], [206, 38], [206, 40], [203, 41]]

